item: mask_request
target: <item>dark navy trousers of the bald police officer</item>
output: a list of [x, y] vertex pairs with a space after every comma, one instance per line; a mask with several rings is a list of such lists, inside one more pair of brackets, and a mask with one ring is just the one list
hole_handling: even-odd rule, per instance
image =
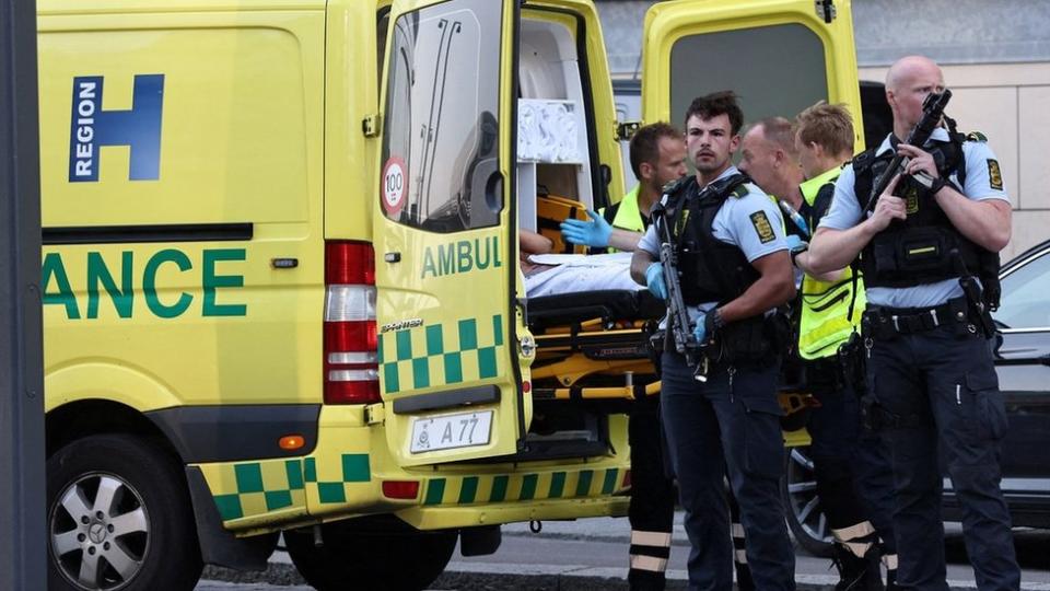
[[894, 471], [898, 584], [948, 589], [940, 453], [962, 505], [978, 589], [1018, 589], [1010, 513], [999, 486], [1006, 412], [984, 337], [953, 323], [878, 339], [867, 372]]

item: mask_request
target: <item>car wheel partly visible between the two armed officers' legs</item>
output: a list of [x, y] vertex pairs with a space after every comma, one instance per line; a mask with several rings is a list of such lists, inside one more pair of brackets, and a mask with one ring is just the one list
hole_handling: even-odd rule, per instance
[[830, 558], [833, 540], [828, 519], [820, 506], [814, 474], [809, 448], [790, 448], [781, 494], [788, 514], [788, 526], [795, 542], [814, 556]]

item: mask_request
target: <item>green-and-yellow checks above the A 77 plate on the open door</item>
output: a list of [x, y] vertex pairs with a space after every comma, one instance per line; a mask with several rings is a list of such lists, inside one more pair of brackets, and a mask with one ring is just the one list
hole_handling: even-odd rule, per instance
[[381, 380], [386, 393], [395, 394], [495, 378], [501, 370], [501, 314], [381, 334]]

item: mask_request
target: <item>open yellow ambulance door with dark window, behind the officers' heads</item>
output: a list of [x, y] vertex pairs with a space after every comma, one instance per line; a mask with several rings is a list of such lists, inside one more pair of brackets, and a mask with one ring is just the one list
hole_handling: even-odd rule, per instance
[[679, 0], [645, 14], [645, 123], [685, 127], [697, 96], [732, 90], [745, 124], [792, 119], [817, 101], [844, 103], [863, 146], [849, 0]]

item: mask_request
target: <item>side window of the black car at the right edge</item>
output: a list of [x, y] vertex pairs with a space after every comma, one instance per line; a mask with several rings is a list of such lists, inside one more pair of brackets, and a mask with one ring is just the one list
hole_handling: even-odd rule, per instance
[[1050, 251], [1003, 278], [1002, 303], [993, 316], [1004, 328], [1050, 328]]

